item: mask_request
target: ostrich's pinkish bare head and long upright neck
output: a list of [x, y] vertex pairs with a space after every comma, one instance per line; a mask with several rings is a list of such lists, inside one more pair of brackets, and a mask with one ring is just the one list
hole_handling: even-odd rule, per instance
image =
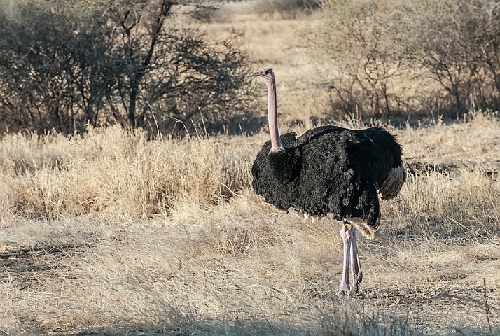
[[271, 151], [275, 152], [283, 148], [281, 141], [279, 141], [278, 132], [278, 110], [276, 103], [276, 81], [275, 73], [272, 69], [261, 68], [252, 73], [253, 76], [261, 77], [265, 84], [268, 85], [268, 122], [269, 132], [271, 135]]

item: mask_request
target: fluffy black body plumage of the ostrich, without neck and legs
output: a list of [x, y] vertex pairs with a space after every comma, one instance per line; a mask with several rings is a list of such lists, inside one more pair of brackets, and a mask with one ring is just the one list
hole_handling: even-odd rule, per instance
[[267, 141], [254, 161], [252, 186], [258, 195], [279, 209], [331, 213], [339, 221], [359, 217], [377, 227], [377, 186], [402, 164], [401, 146], [389, 132], [323, 126], [280, 140], [284, 148], [270, 152]]

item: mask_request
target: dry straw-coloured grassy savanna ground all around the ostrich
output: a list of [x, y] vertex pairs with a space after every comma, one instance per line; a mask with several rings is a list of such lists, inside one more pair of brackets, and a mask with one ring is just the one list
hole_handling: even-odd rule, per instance
[[[211, 25], [242, 29], [256, 64], [273, 66], [281, 130], [299, 134], [326, 104], [288, 48], [300, 25]], [[411, 174], [382, 202], [382, 237], [359, 239], [363, 283], [350, 299], [337, 295], [340, 224], [251, 190], [265, 130], [6, 135], [0, 335], [499, 335], [498, 114], [387, 127]]]

